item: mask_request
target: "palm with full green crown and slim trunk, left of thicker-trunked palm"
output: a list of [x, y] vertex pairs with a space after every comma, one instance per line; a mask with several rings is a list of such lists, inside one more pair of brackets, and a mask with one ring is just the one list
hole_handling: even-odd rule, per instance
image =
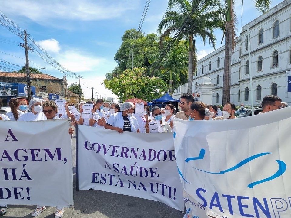
[[[196, 69], [196, 37], [202, 39], [204, 45], [208, 39], [209, 44], [215, 48], [216, 38], [213, 34], [215, 28], [222, 28], [225, 14], [219, 0], [169, 0], [169, 10], [159, 24], [160, 41], [171, 34], [181, 31], [177, 42], [186, 40], [188, 50], [188, 93], [192, 93], [193, 69]], [[176, 8], [177, 11], [172, 11]], [[163, 33], [162, 31], [165, 30]]]

